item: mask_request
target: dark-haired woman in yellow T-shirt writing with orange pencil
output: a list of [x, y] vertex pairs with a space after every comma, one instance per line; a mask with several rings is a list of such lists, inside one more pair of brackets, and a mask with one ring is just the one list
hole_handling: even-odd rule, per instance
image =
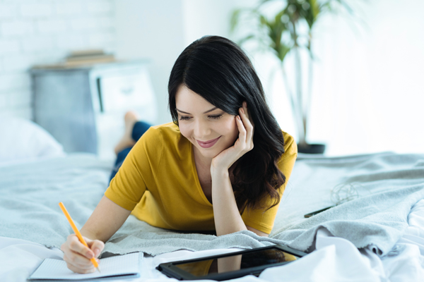
[[81, 229], [89, 248], [76, 235], [61, 246], [72, 271], [94, 271], [89, 259], [131, 212], [160, 228], [271, 232], [297, 147], [245, 53], [223, 37], [196, 40], [175, 61], [168, 92], [174, 122], [131, 149]]

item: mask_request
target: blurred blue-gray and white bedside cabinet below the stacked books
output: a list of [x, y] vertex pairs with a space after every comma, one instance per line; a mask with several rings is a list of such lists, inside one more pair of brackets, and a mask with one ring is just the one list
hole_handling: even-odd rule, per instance
[[64, 146], [114, 159], [124, 114], [155, 124], [156, 101], [146, 61], [74, 68], [33, 68], [34, 121]]

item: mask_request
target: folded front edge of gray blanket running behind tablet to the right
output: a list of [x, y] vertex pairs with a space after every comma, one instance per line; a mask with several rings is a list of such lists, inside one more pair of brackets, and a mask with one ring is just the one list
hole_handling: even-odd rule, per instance
[[[216, 237], [203, 234], [181, 234], [148, 226], [134, 216], [106, 243], [105, 252], [126, 254], [139, 250], [159, 255], [176, 250], [211, 250], [226, 247], [242, 249], [281, 244], [310, 252], [319, 228], [336, 237], [346, 238], [358, 248], [370, 247], [377, 255], [386, 255], [408, 226], [413, 204], [424, 198], [424, 185], [381, 192], [353, 200], [312, 216], [272, 238], [250, 231]], [[375, 204], [375, 203], [378, 204]]]

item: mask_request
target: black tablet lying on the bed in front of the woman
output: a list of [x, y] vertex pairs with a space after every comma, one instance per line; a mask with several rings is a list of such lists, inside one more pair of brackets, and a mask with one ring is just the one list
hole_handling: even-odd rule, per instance
[[167, 262], [159, 264], [156, 269], [178, 280], [223, 281], [249, 274], [259, 276], [268, 267], [288, 264], [305, 255], [305, 252], [290, 247], [273, 245], [199, 259]]

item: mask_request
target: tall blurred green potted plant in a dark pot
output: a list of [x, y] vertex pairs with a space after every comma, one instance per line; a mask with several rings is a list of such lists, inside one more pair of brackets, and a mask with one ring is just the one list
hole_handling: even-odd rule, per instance
[[[266, 13], [266, 8], [269, 8], [272, 4], [279, 4], [279, 8], [274, 8], [272, 16], [269, 16], [269, 13]], [[325, 145], [308, 144], [306, 142], [312, 92], [312, 60], [314, 59], [312, 32], [322, 14], [340, 11], [340, 9], [335, 9], [339, 7], [353, 15], [353, 9], [345, 0], [262, 0], [254, 8], [240, 8], [232, 13], [232, 32], [241, 23], [254, 22], [254, 28], [240, 39], [239, 44], [242, 45], [254, 40], [261, 47], [272, 51], [281, 64], [283, 82], [298, 130], [298, 152], [324, 153]], [[306, 50], [309, 54], [307, 91], [302, 87], [306, 84], [300, 56], [302, 50]], [[293, 55], [294, 87], [290, 87], [286, 75], [285, 59], [288, 54]]]

